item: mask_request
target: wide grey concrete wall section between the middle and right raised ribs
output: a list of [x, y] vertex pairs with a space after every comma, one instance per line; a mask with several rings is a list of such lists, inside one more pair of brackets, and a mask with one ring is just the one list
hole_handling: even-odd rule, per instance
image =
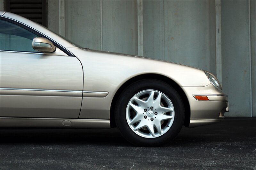
[[215, 1], [143, 1], [144, 56], [216, 74]]

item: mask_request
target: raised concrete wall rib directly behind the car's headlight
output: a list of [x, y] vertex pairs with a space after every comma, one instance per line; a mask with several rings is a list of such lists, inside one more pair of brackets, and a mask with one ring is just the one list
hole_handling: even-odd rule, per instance
[[215, 0], [216, 74], [222, 85], [221, 2]]

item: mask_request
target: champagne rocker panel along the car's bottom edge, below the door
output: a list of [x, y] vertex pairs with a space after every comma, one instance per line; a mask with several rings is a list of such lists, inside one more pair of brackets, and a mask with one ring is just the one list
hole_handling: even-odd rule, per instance
[[0, 117], [0, 127], [12, 128], [110, 128], [105, 119]]

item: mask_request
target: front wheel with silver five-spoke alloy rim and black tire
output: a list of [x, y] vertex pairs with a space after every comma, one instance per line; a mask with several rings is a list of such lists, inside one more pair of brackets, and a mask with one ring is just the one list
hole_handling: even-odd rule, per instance
[[116, 103], [116, 125], [135, 145], [158, 146], [171, 141], [184, 123], [184, 105], [169, 84], [154, 79], [128, 86]]

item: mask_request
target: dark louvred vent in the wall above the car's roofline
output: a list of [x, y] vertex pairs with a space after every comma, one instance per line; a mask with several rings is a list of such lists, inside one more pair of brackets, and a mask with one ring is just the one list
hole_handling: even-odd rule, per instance
[[5, 0], [5, 11], [47, 26], [46, 0]]

